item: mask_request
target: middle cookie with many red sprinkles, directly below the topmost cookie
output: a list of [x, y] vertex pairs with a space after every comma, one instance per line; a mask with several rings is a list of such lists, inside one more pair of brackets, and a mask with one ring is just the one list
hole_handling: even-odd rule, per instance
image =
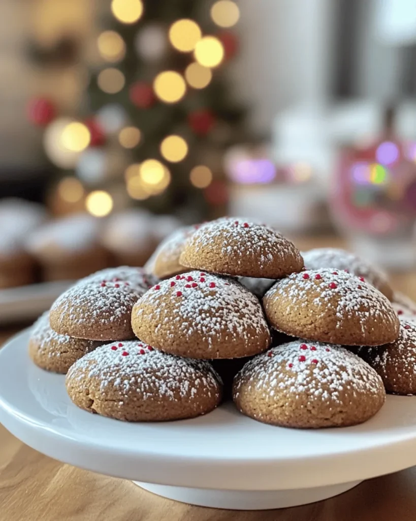
[[132, 326], [141, 340], [191, 358], [240, 358], [270, 343], [256, 297], [237, 281], [204, 271], [153, 286], [135, 304]]

